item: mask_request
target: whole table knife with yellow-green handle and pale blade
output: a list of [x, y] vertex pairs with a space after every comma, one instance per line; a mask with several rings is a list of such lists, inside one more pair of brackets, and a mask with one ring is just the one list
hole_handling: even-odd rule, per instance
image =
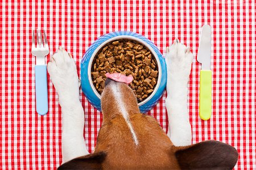
[[197, 61], [201, 63], [200, 92], [199, 92], [199, 116], [208, 120], [212, 113], [212, 71], [210, 70], [210, 25], [204, 25], [201, 31]]

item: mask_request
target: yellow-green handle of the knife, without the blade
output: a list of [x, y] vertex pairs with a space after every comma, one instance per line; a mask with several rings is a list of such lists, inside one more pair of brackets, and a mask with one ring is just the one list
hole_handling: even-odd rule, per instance
[[200, 71], [199, 116], [208, 120], [212, 113], [212, 71]]

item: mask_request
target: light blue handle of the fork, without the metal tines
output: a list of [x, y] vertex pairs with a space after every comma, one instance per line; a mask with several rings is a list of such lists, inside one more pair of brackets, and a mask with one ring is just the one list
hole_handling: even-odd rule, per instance
[[36, 112], [44, 115], [48, 112], [46, 65], [35, 65]]

